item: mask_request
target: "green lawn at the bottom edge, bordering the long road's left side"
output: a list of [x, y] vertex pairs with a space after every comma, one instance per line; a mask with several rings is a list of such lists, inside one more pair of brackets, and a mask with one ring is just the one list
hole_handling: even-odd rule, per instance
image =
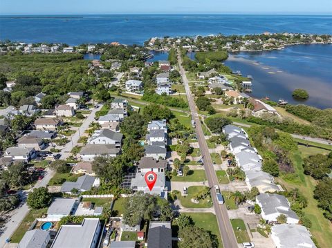
[[223, 247], [223, 242], [221, 241], [218, 223], [216, 222], [216, 216], [213, 213], [183, 213], [186, 216], [192, 217], [195, 222], [196, 227], [203, 228], [205, 230], [211, 231], [212, 235], [218, 238], [219, 246]]

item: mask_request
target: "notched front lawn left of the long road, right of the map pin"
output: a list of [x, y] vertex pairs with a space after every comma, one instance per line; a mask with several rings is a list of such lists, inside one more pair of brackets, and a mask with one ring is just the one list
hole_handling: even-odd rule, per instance
[[187, 208], [202, 208], [202, 207], [212, 207], [212, 200], [210, 195], [204, 200], [200, 200], [199, 203], [192, 202], [192, 198], [204, 189], [203, 186], [191, 186], [188, 188], [188, 194], [186, 196], [182, 196], [181, 193], [176, 194], [178, 200], [180, 200], [183, 207]]

